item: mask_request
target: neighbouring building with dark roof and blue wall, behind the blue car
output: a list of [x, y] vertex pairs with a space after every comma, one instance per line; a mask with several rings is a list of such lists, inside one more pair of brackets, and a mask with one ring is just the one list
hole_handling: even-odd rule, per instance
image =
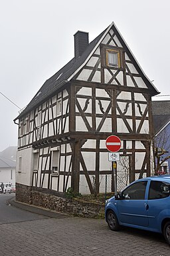
[[155, 135], [155, 145], [160, 151], [165, 150], [162, 159], [166, 159], [161, 165], [159, 173], [170, 172], [170, 101], [153, 101], [153, 125]]

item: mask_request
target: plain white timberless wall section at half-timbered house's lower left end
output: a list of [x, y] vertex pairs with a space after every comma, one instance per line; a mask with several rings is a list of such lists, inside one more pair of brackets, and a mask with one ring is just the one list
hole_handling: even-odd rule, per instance
[[17, 151], [16, 182], [31, 186], [33, 171], [33, 148]]

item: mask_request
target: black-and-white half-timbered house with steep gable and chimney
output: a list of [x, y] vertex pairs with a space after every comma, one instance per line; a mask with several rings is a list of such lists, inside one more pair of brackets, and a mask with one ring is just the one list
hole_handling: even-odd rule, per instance
[[124, 171], [128, 182], [150, 175], [151, 96], [157, 93], [114, 23], [91, 43], [88, 33], [78, 31], [74, 58], [14, 120], [19, 124], [17, 183], [61, 192], [68, 187], [104, 192], [105, 176], [108, 182], [112, 177], [109, 135], [122, 141], [118, 186]]

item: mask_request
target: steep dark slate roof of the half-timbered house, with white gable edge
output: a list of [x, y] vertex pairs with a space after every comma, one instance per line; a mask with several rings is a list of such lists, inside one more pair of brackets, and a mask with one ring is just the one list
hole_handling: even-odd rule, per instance
[[[29, 105], [27, 105], [27, 107], [19, 114], [18, 117], [14, 119], [14, 121], [21, 118], [23, 115], [31, 111], [33, 108], [40, 105], [40, 103], [42, 103], [47, 97], [52, 95], [56, 90], [60, 89], [60, 87], [66, 85], [66, 83], [68, 83], [68, 81], [70, 81], [72, 77], [74, 77], [74, 75], [76, 75], [76, 73], [78, 73], [78, 71], [83, 67], [85, 62], [88, 61], [92, 53], [94, 53], [94, 51], [96, 50], [96, 48], [98, 47], [102, 39], [104, 39], [106, 33], [108, 33], [108, 31], [111, 29], [112, 26], [114, 27], [114, 30], [117, 31], [119, 39], [122, 45], [127, 49], [130, 57], [134, 59], [135, 63], [137, 63], [135, 57], [129, 50], [129, 47], [124, 41], [122, 35], [118, 31], [114, 23], [112, 23], [102, 33], [100, 33], [100, 35], [98, 35], [96, 39], [94, 39], [91, 43], [89, 43], [88, 47], [86, 47], [86, 50], [84, 51], [84, 53], [82, 53], [82, 55], [79, 58], [71, 59], [64, 67], [62, 67], [62, 69], [56, 72], [52, 77], [50, 77], [50, 79], [46, 80], [46, 82], [42, 85], [41, 89], [39, 89], [35, 97], [33, 97]], [[142, 71], [138, 63], [137, 63], [137, 67], [138, 67], [137, 69], [141, 71], [141, 73], [143, 73], [143, 77], [144, 79], [146, 79], [147, 85], [149, 85], [149, 87], [151, 88], [152, 95], [157, 95], [158, 94], [157, 89], [154, 87], [151, 81], [149, 81], [149, 79], [146, 77], [145, 73]]]

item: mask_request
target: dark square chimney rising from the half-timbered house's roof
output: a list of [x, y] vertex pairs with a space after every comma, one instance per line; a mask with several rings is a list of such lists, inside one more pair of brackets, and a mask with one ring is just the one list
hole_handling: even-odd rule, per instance
[[74, 34], [74, 57], [77, 59], [82, 55], [88, 46], [88, 33], [77, 31]]

